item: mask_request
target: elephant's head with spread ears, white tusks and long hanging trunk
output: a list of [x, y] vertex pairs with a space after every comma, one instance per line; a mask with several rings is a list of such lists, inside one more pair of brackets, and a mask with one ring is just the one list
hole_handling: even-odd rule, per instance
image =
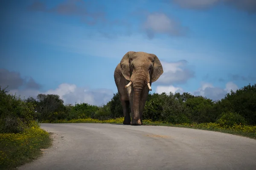
[[[160, 60], [154, 54], [145, 52], [127, 52], [120, 62], [122, 75], [130, 81], [125, 88], [131, 86], [132, 102], [131, 111], [132, 122], [140, 124], [140, 105], [145, 105], [145, 96], [141, 96], [148, 91], [151, 91], [151, 82], [163, 74], [163, 67]], [[147, 96], [147, 95], [146, 95]], [[145, 99], [144, 99], [145, 98]], [[143, 100], [143, 101], [142, 101]], [[140, 103], [142, 102], [142, 103]], [[141, 113], [142, 114], [142, 113]]]

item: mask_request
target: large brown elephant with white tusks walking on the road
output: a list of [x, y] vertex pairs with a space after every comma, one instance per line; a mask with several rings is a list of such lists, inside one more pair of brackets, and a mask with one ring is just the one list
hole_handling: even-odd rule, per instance
[[142, 115], [148, 93], [152, 91], [151, 83], [162, 74], [162, 64], [155, 54], [128, 51], [122, 57], [114, 71], [114, 79], [122, 104], [124, 125], [143, 125]]

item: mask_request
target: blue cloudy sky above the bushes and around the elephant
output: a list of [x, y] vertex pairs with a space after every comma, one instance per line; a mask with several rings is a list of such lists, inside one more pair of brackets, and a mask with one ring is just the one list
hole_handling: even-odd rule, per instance
[[254, 0], [3, 0], [0, 85], [21, 97], [108, 102], [128, 51], [156, 54], [152, 92], [221, 99], [256, 82]]

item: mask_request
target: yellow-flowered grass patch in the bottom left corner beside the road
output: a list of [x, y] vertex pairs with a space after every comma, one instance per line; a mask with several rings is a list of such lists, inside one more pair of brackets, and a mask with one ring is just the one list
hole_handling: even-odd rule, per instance
[[35, 124], [22, 133], [0, 133], [0, 169], [10, 170], [41, 156], [52, 142], [45, 130]]

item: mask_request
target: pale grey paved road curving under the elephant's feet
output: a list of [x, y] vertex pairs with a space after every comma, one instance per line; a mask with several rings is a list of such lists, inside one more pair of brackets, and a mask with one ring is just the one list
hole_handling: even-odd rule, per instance
[[53, 147], [20, 170], [256, 170], [256, 140], [180, 127], [42, 124]]

